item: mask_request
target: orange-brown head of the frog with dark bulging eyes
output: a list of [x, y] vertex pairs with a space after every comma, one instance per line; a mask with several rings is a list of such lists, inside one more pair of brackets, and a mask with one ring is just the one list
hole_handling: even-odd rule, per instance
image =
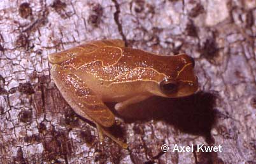
[[[179, 98], [194, 94], [198, 89], [197, 77], [194, 74], [195, 61], [187, 54], [171, 56], [165, 65], [164, 78], [155, 86], [153, 94], [166, 98]], [[157, 89], [156, 89], [157, 87]]]

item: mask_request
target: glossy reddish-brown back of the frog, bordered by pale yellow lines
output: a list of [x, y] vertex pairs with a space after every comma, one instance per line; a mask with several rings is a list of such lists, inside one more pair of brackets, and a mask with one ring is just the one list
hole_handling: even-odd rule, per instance
[[[148, 77], [152, 79], [153, 72], [160, 73], [155, 70], [155, 63], [158, 61], [152, 60], [153, 56], [157, 55], [129, 47], [107, 46], [101, 47], [92, 53], [71, 58], [62, 64], [75, 65], [76, 70], [90, 72], [104, 80], [121, 80], [124, 75], [129, 75], [131, 77], [129, 80], [138, 79], [136, 77], [140, 73], [146, 75], [147, 72], [150, 73]], [[160, 59], [161, 57], [157, 56], [159, 62], [164, 61]]]

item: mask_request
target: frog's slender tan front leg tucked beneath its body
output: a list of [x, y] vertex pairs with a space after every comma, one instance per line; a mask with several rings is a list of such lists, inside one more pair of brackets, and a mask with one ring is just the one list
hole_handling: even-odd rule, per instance
[[134, 97], [129, 98], [129, 99], [125, 100], [125, 101], [122, 101], [122, 102], [119, 102], [119, 103], [115, 104], [115, 110], [117, 110], [120, 113], [122, 111], [122, 109], [126, 108], [130, 104], [139, 103], [140, 101], [143, 101], [143, 100], [145, 100], [145, 99], [147, 99], [149, 97], [150, 97], [149, 95], [134, 96]]

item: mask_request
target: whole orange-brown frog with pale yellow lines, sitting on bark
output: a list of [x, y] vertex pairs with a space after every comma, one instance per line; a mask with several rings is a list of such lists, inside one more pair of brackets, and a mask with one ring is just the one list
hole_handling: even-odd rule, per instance
[[128, 144], [108, 130], [115, 115], [105, 103], [122, 111], [152, 96], [182, 98], [198, 89], [191, 56], [150, 53], [120, 39], [84, 42], [49, 54], [48, 61], [57, 89], [76, 114], [95, 123], [99, 141], [107, 136], [125, 149]]

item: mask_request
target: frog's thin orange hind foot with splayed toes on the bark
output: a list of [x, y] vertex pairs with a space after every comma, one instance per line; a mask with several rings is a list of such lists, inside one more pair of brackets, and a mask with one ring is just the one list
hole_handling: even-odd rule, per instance
[[127, 143], [120, 141], [117, 137], [110, 134], [110, 132], [108, 132], [107, 130], [104, 130], [104, 128], [101, 127], [101, 125], [96, 123], [96, 126], [97, 126], [97, 131], [98, 131], [98, 134], [99, 134], [99, 142], [101, 142], [101, 143], [103, 142], [103, 139], [104, 139], [103, 134], [104, 134], [104, 135], [110, 137], [110, 139], [115, 141], [122, 148], [124, 148], [124, 149], [128, 148]]

